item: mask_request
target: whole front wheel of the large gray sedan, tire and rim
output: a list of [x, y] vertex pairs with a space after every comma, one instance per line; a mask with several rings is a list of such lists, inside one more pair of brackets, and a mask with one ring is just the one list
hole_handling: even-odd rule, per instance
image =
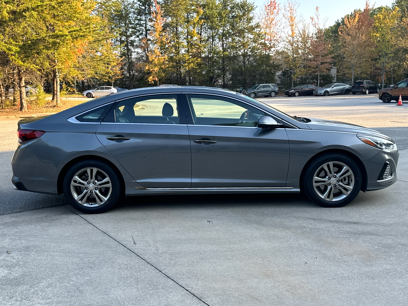
[[361, 188], [357, 163], [341, 153], [328, 153], [308, 164], [302, 178], [304, 193], [324, 207], [341, 207], [355, 199]]

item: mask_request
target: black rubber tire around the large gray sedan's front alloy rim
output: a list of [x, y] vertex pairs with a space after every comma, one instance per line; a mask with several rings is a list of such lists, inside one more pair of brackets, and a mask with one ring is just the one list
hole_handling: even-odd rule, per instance
[[[315, 190], [315, 187], [313, 186], [313, 182], [316, 182], [315, 180], [315, 174], [317, 173], [317, 176], [322, 177], [321, 175], [319, 175], [319, 173], [317, 171], [320, 171], [322, 168], [322, 165], [329, 163], [329, 162], [334, 162], [334, 166], [333, 166], [333, 170], [334, 170], [334, 174], [339, 173], [340, 170], [340, 166], [339, 164], [335, 163], [342, 163], [346, 166], [348, 166], [348, 168], [352, 171], [352, 173], [350, 174], [350, 176], [345, 176], [342, 177], [341, 180], [348, 180], [347, 184], [350, 185], [352, 184], [352, 186], [347, 186], [347, 187], [351, 187], [352, 190], [348, 193], [348, 195], [344, 195], [344, 193], [342, 193], [340, 191], [340, 187], [337, 187], [336, 184], [338, 184], [337, 182], [339, 182], [339, 180], [337, 180], [337, 182], [334, 183], [333, 187], [331, 186], [331, 188], [333, 188], [333, 191], [335, 191], [333, 193], [333, 200], [329, 201], [329, 200], [325, 200], [323, 198], [324, 195], [321, 195], [320, 191], [322, 190], [322, 193], [325, 193], [325, 191], [328, 190], [329, 186], [327, 185], [321, 185], [321, 186], [317, 186]], [[322, 170], [324, 172], [324, 170]], [[329, 170], [330, 171], [330, 170]], [[349, 172], [346, 172], [349, 173]], [[323, 174], [324, 176], [324, 174]], [[353, 178], [354, 177], [354, 183], [353, 183]], [[336, 180], [336, 178], [334, 177], [329, 177], [330, 179], [334, 179]], [[326, 180], [326, 179], [325, 179]], [[323, 180], [322, 180], [323, 181]], [[328, 180], [326, 180], [328, 181]], [[320, 206], [323, 207], [341, 207], [344, 205], [347, 205], [348, 203], [350, 203], [351, 201], [353, 201], [355, 199], [355, 197], [357, 197], [360, 188], [361, 188], [361, 181], [362, 181], [362, 176], [361, 176], [361, 170], [359, 168], [359, 166], [357, 165], [357, 163], [350, 157], [348, 157], [347, 155], [344, 155], [342, 153], [326, 153], [323, 155], [320, 155], [318, 157], [316, 157], [315, 159], [311, 160], [308, 165], [306, 166], [306, 168], [304, 169], [304, 174], [302, 177], [302, 189], [304, 191], [304, 193], [308, 196], [308, 198], [310, 200], [312, 200], [313, 202], [319, 204]], [[346, 182], [346, 181], [344, 181]], [[330, 182], [329, 184], [330, 185]], [[344, 185], [343, 185], [344, 186]], [[321, 188], [321, 189], [319, 189]], [[336, 191], [337, 190], [337, 191]], [[347, 191], [346, 188], [343, 188], [344, 191]], [[330, 194], [330, 192], [329, 192]], [[344, 198], [341, 198], [345, 196]], [[335, 200], [335, 197], [338, 198], [338, 200]]]

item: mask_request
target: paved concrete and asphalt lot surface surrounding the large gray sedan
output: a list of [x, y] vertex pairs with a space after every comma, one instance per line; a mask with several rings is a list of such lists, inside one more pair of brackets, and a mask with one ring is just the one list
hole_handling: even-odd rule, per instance
[[390, 135], [399, 180], [342, 208], [297, 194], [146, 196], [85, 215], [63, 195], [13, 189], [18, 120], [1, 120], [0, 305], [406, 305], [408, 105], [259, 100]]

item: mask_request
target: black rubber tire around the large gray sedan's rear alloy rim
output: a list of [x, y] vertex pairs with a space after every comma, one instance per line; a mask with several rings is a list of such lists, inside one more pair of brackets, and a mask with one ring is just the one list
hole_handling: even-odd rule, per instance
[[[85, 205], [96, 204], [95, 206], [84, 206], [75, 200], [74, 195], [71, 192], [71, 180], [73, 180], [76, 173], [78, 173], [79, 171], [83, 171], [84, 169], [86, 171], [86, 168], [97, 168], [100, 171], [100, 174], [102, 175], [102, 177], [104, 174], [106, 174], [110, 181], [111, 192], [104, 194], [107, 196], [107, 198], [106, 198], [106, 201], [104, 201], [101, 205], [98, 205], [98, 203], [95, 203], [97, 202], [95, 200], [95, 202], [93, 203], [89, 203], [89, 204], [85, 203]], [[97, 174], [99, 173], [97, 172]], [[105, 184], [109, 184], [109, 181], [108, 183], [105, 183]], [[90, 182], [90, 183], [92, 184], [93, 182]], [[87, 185], [87, 186], [89, 187], [90, 185]], [[97, 184], [94, 186], [97, 186]], [[86, 189], [91, 189], [91, 187], [89, 188], [88, 187], [86, 187]], [[109, 209], [111, 209], [112, 206], [115, 205], [124, 195], [124, 187], [122, 186], [118, 173], [115, 170], [113, 170], [112, 167], [109, 166], [108, 164], [98, 161], [98, 160], [82, 160], [80, 162], [77, 162], [73, 166], [71, 166], [71, 168], [69, 168], [69, 170], [65, 174], [62, 188], [64, 191], [64, 195], [67, 198], [69, 204], [71, 204], [73, 208], [75, 208], [76, 210], [82, 213], [92, 213], [92, 214], [93, 213], [104, 213], [105, 211], [108, 211]], [[84, 191], [84, 188], [82, 187], [73, 187], [73, 188], [74, 188], [74, 192], [76, 192], [75, 188], [81, 188], [81, 190], [77, 192], [77, 194]], [[94, 190], [98, 190], [98, 188], [95, 188]], [[101, 194], [106, 191], [107, 191], [107, 188], [100, 187], [99, 192], [101, 192]], [[90, 199], [92, 197], [95, 199], [96, 195], [91, 194], [88, 196], [88, 198]], [[98, 201], [100, 201], [99, 197], [98, 197]]]

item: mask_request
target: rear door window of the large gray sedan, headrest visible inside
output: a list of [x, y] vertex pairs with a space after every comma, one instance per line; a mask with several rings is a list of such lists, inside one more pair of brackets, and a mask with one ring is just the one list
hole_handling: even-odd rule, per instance
[[180, 122], [177, 95], [154, 95], [120, 101], [115, 107], [115, 122], [162, 123]]

